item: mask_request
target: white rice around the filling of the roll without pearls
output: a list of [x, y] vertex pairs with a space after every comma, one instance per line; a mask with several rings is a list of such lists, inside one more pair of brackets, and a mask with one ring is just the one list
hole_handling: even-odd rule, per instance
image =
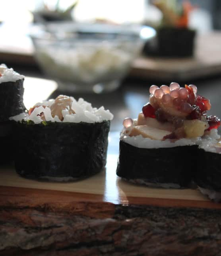
[[[28, 113], [21, 113], [19, 115], [10, 117], [10, 120], [14, 120], [16, 122], [18, 121], [33, 121], [34, 123], [41, 123], [44, 121], [40, 117], [40, 113], [44, 113], [46, 121], [52, 121], [52, 122], [71, 122], [71, 123], [79, 123], [79, 122], [86, 122], [86, 123], [101, 123], [103, 121], [108, 121], [113, 119], [112, 113], [110, 113], [109, 110], [105, 110], [105, 108], [99, 107], [98, 109], [96, 107], [92, 107], [91, 103], [86, 102], [82, 98], [79, 98], [78, 101], [76, 101], [73, 97], [70, 97], [72, 100], [72, 110], [74, 110], [75, 113], [69, 113], [68, 110], [63, 110], [62, 115], [64, 117], [64, 120], [61, 121], [57, 115], [52, 117], [50, 106], [54, 103], [54, 100], [49, 101], [43, 101], [35, 104], [35, 109], [31, 113], [31, 115], [28, 115]], [[47, 107], [43, 107], [47, 106]]]

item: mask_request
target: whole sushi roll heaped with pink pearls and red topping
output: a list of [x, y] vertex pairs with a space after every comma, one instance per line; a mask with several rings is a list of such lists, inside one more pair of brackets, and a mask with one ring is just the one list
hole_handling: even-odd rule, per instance
[[147, 186], [188, 187], [198, 145], [209, 129], [210, 102], [197, 95], [195, 85], [153, 85], [149, 92], [138, 119], [123, 121], [116, 174]]

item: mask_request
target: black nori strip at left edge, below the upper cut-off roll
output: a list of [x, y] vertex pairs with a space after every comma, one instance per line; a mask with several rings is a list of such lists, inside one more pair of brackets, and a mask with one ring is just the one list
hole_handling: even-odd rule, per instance
[[6, 164], [13, 160], [14, 141], [12, 139], [12, 121], [0, 123], [1, 154], [0, 164]]

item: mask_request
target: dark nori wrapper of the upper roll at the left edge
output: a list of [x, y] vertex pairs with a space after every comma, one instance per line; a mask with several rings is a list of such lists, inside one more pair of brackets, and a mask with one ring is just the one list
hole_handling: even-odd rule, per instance
[[0, 83], [0, 122], [7, 121], [9, 117], [18, 115], [25, 111], [23, 104], [24, 79], [16, 82]]

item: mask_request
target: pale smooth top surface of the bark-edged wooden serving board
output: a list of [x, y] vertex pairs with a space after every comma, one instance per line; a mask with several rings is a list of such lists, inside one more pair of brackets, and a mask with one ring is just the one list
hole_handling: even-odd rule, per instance
[[44, 193], [48, 195], [56, 192], [56, 195], [71, 196], [75, 201], [221, 208], [220, 204], [209, 201], [196, 189], [147, 188], [118, 178], [116, 176], [118, 136], [116, 132], [110, 133], [106, 169], [95, 176], [76, 182], [42, 182], [20, 177], [14, 166], [2, 166], [1, 194], [6, 195], [6, 191], [14, 191], [14, 193], [41, 193], [43, 196]]

